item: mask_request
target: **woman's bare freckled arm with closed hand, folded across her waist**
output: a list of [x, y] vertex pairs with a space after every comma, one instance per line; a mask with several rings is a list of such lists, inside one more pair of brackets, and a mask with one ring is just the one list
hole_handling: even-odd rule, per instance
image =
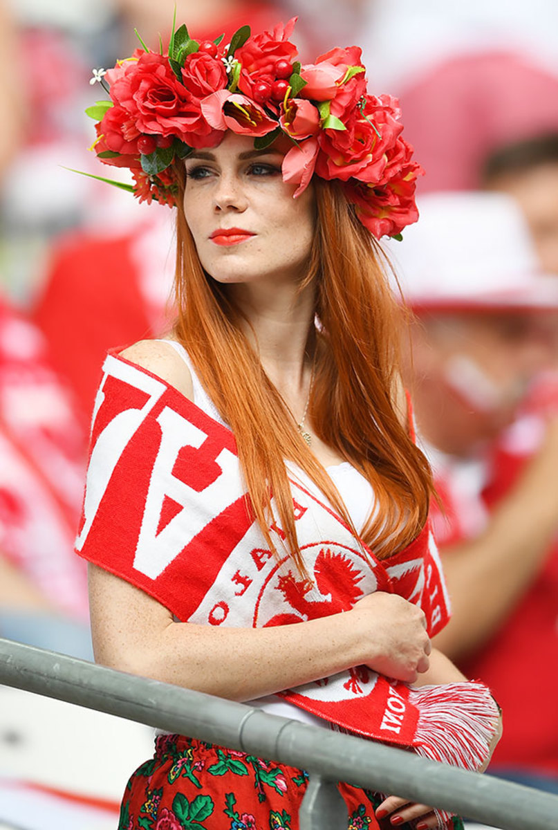
[[90, 566], [95, 659], [232, 700], [249, 700], [366, 665], [414, 681], [428, 666], [423, 613], [389, 593], [355, 608], [277, 627], [175, 623], [147, 593]]

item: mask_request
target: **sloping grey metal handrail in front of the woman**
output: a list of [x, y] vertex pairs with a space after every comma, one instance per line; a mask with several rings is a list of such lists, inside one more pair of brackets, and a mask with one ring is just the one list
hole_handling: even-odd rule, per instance
[[397, 793], [504, 830], [558, 828], [558, 797], [550, 793], [56, 652], [0, 639], [0, 682], [248, 751], [330, 781]]

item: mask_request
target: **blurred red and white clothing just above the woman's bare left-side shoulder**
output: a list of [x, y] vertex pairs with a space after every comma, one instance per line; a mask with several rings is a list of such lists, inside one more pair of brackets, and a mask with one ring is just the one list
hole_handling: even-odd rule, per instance
[[140, 213], [114, 232], [77, 231], [56, 242], [33, 311], [87, 420], [106, 352], [163, 334], [172, 318], [174, 215], [167, 207]]

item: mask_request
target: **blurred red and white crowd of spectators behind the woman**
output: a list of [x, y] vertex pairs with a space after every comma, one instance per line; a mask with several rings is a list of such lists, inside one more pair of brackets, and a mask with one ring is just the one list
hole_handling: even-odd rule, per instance
[[[174, 251], [167, 207], [71, 171], [99, 173], [92, 68], [128, 56], [135, 28], [165, 40], [174, 4], [0, 0], [0, 636], [81, 657], [72, 547], [100, 366], [169, 325]], [[176, 7], [202, 38], [297, 14], [309, 59], [356, 42], [370, 91], [399, 96], [421, 219], [384, 250], [439, 496], [453, 619], [438, 647], [504, 710], [493, 771], [558, 792], [558, 6]]]

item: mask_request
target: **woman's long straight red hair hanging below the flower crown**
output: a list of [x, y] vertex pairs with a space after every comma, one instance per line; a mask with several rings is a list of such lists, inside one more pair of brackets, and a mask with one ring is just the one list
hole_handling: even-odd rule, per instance
[[[227, 286], [203, 271], [182, 207], [184, 168], [177, 173], [174, 334], [234, 433], [250, 507], [267, 544], [276, 549], [270, 533], [273, 496], [286, 548], [304, 572], [285, 460], [311, 477], [348, 525], [350, 517], [243, 334], [242, 318]], [[402, 313], [370, 233], [338, 183], [315, 178], [314, 186], [316, 234], [304, 285], [316, 281], [321, 331], [309, 415], [321, 440], [374, 488], [374, 510], [360, 535], [385, 559], [418, 535], [432, 492], [428, 462], [395, 406]]]

